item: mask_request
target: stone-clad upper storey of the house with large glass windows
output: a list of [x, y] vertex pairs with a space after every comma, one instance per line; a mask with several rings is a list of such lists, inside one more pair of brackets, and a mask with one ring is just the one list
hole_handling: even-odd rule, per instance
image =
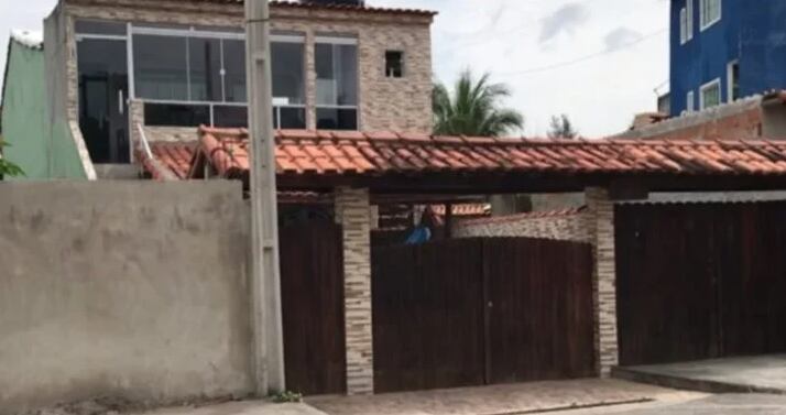
[[[198, 125], [244, 127], [243, 12], [242, 0], [61, 0], [44, 24], [46, 92], [14, 100], [35, 108], [24, 101], [43, 99], [46, 131], [24, 134], [17, 124], [30, 117], [2, 120], [22, 131], [8, 141], [48, 146], [46, 156], [18, 157], [22, 167], [39, 178], [96, 178], [133, 163], [143, 136], [196, 140]], [[273, 1], [274, 127], [430, 132], [434, 14], [361, 0]], [[6, 83], [29, 78], [10, 72]], [[32, 160], [46, 168], [24, 165]]]

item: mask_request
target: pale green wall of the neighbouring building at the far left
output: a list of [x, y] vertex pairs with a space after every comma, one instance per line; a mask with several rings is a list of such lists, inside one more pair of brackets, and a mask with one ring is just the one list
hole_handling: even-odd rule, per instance
[[[3, 154], [29, 178], [48, 176], [44, 53], [14, 40], [9, 43], [7, 85], [2, 97]], [[7, 177], [7, 179], [13, 179]]]

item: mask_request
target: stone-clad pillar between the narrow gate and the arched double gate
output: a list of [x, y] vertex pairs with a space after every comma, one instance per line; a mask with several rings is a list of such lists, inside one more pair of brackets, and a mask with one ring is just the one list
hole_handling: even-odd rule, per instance
[[336, 189], [336, 220], [343, 227], [343, 302], [349, 395], [374, 392], [370, 209], [368, 189]]

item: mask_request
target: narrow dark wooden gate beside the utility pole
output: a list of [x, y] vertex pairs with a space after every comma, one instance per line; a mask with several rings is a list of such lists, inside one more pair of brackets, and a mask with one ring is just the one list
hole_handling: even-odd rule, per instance
[[307, 395], [346, 392], [341, 227], [280, 230], [286, 387]]

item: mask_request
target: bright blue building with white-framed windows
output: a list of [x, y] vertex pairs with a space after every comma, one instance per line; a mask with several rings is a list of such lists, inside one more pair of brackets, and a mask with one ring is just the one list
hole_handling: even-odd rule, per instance
[[786, 88], [786, 1], [672, 0], [670, 111]]

